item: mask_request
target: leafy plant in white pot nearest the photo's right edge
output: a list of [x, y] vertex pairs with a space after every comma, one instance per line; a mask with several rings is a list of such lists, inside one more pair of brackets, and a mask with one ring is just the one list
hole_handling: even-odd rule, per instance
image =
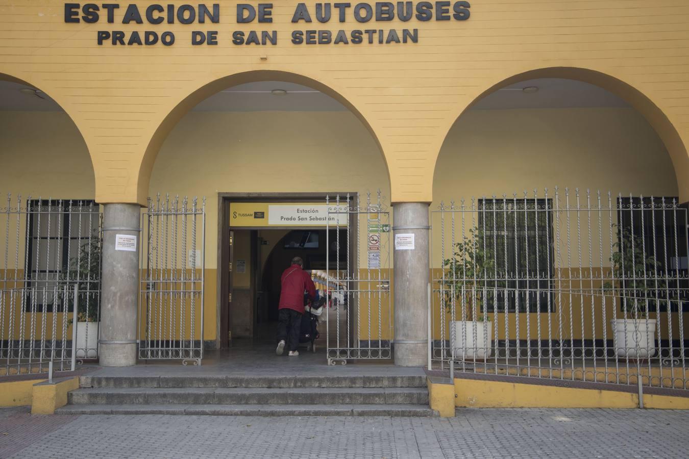
[[644, 253], [644, 240], [629, 228], [618, 232], [615, 252], [610, 256], [613, 281], [603, 284], [604, 295], [615, 295], [621, 301], [624, 317], [611, 319], [615, 355], [644, 359], [655, 356], [656, 319], [648, 317], [648, 302], [655, 301], [659, 308], [663, 302], [656, 298], [662, 282], [648, 279], [646, 273], [661, 270], [654, 256]]

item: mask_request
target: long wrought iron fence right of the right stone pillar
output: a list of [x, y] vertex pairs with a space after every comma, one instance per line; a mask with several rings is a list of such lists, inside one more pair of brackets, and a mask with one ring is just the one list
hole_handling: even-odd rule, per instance
[[689, 389], [687, 210], [555, 188], [432, 212], [429, 367]]

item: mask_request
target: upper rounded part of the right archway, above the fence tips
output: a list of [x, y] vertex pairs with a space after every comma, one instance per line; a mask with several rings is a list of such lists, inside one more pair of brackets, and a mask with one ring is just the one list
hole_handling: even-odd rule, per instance
[[[455, 190], [444, 177], [460, 166], [453, 158], [466, 175]], [[688, 171], [683, 140], [648, 96], [608, 74], [553, 67], [504, 78], [473, 98], [444, 138], [433, 197], [559, 185], [686, 202]]]

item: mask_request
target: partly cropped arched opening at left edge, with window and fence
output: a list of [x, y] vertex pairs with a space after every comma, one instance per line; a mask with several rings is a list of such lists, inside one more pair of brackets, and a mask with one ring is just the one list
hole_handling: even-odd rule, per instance
[[101, 211], [70, 114], [0, 74], [0, 359], [8, 370], [73, 370], [98, 357]]

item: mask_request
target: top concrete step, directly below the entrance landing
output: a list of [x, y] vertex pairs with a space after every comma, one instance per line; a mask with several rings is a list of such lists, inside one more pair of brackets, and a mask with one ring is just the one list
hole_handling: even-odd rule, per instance
[[426, 376], [81, 376], [81, 387], [426, 387]]

